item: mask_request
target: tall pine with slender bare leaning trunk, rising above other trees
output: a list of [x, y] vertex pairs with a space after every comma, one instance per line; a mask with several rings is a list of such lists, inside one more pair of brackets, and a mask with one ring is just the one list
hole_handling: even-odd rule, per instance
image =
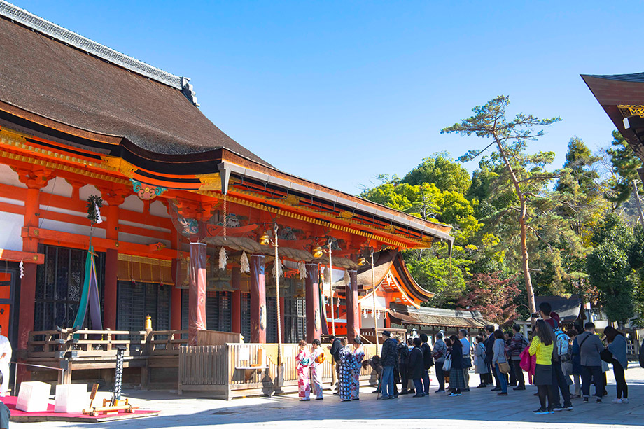
[[[505, 171], [510, 176], [514, 192], [519, 199], [518, 220], [520, 226], [521, 240], [521, 268], [524, 272], [524, 281], [528, 294], [528, 307], [531, 312], [535, 311], [534, 290], [530, 275], [530, 264], [528, 256], [528, 198], [531, 195], [526, 188], [530, 182], [538, 181], [543, 183], [552, 176], [549, 176], [543, 170], [543, 167], [554, 158], [553, 153], [538, 153], [536, 155], [527, 155], [525, 153], [527, 141], [533, 141], [542, 136], [543, 130], [535, 130], [535, 127], [545, 127], [553, 122], [559, 121], [559, 118], [538, 119], [533, 115], [524, 115], [519, 113], [512, 120], [505, 117], [505, 109], [510, 99], [506, 96], [498, 96], [488, 101], [484, 106], [477, 106], [472, 109], [474, 115], [470, 118], [463, 119], [451, 127], [441, 130], [441, 133], [457, 133], [470, 136], [474, 134], [477, 137], [491, 139], [491, 143], [483, 150], [470, 150], [461, 161], [472, 160], [480, 155], [490, 146], [496, 145], [496, 157], [500, 157], [505, 165]], [[493, 154], [494, 156], [494, 154]], [[529, 168], [528, 168], [529, 167]]]

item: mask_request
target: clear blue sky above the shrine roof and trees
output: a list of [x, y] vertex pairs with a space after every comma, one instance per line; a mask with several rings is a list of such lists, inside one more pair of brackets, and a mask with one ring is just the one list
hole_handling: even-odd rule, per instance
[[580, 73], [644, 71], [640, 1], [14, 3], [192, 78], [233, 139], [352, 194], [432, 153], [486, 146], [440, 129], [498, 94], [511, 113], [561, 116], [530, 146], [558, 167], [570, 137], [596, 149], [614, 128]]

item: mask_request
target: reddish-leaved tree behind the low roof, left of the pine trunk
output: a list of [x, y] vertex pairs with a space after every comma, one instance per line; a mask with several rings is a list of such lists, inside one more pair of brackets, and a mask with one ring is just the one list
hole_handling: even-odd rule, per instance
[[468, 293], [458, 300], [458, 309], [480, 311], [482, 316], [498, 325], [517, 318], [515, 298], [521, 294], [518, 274], [507, 279], [499, 272], [475, 273], [468, 283]]

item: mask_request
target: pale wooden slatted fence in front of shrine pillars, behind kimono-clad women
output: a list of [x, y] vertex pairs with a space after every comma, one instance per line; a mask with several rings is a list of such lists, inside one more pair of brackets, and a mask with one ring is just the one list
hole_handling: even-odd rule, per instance
[[[323, 380], [329, 382], [335, 362], [323, 345]], [[282, 365], [277, 365], [277, 344], [228, 343], [223, 346], [186, 346], [179, 352], [179, 393], [199, 391], [216, 398], [232, 399], [253, 394], [297, 390], [297, 344], [282, 344]], [[365, 359], [375, 344], [365, 344]], [[365, 383], [376, 380], [370, 367], [361, 370]]]

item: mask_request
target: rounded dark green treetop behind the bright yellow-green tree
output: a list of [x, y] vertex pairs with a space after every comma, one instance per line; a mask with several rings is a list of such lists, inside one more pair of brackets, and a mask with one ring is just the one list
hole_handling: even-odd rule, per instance
[[449, 153], [435, 153], [423, 158], [423, 162], [409, 171], [401, 180], [409, 185], [433, 183], [440, 190], [464, 194], [470, 188], [470, 174], [463, 166], [454, 162]]

